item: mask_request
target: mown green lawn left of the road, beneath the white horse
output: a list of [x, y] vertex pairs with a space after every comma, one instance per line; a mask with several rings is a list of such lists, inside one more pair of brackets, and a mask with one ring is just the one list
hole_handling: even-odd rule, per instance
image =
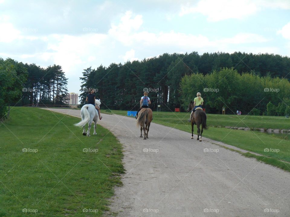
[[79, 118], [39, 108], [14, 107], [10, 115], [0, 125], [0, 216], [101, 216], [108, 210], [124, 173], [113, 134], [97, 125], [97, 135], [91, 129], [84, 137], [73, 126]]

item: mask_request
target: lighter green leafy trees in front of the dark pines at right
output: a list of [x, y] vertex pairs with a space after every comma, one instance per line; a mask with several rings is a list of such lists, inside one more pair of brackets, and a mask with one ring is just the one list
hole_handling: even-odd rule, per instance
[[290, 83], [285, 78], [223, 68], [207, 75], [185, 75], [180, 84], [183, 107], [200, 92], [204, 107], [211, 113], [222, 113], [225, 107], [226, 114], [241, 110], [250, 115], [290, 115]]

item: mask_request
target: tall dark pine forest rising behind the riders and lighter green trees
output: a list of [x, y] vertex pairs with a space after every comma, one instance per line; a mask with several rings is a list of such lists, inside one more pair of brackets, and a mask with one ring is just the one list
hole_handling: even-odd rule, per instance
[[[269, 82], [268, 80], [271, 81], [272, 79], [282, 79], [283, 82], [286, 82], [289, 80], [289, 68], [289, 57], [268, 53], [248, 54], [234, 52], [229, 54], [215, 52], [202, 55], [199, 55], [198, 52], [186, 54], [164, 53], [158, 57], [143, 59], [142, 61], [127, 61], [124, 64], [111, 63], [108, 67], [100, 65], [97, 69], [92, 69], [91, 67], [85, 69], [82, 72], [82, 77], [80, 77], [82, 80], [80, 97], [81, 103], [85, 104], [85, 96], [88, 94], [85, 90], [94, 88], [96, 89], [97, 97], [102, 100], [105, 108], [136, 110], [144, 90], [149, 90], [149, 97], [152, 102], [150, 108], [153, 111], [157, 110], [157, 105], [161, 105], [162, 111], [174, 111], [174, 108], [185, 108], [185, 92], [181, 83], [183, 77], [191, 75], [205, 77], [212, 74], [212, 79], [222, 80], [220, 84], [224, 85], [224, 87], [220, 87], [221, 92], [219, 94], [229, 95], [232, 92], [226, 87], [233, 86], [234, 80], [222, 79], [223, 70], [231, 71], [235, 76], [240, 75], [243, 79], [245, 79], [245, 76], [253, 76], [253, 78], [249, 77], [248, 79], [265, 79], [265, 82]], [[219, 71], [222, 71], [222, 73], [218, 74]], [[236, 76], [236, 78], [238, 77]], [[219, 80], [216, 82], [219, 82]], [[190, 84], [191, 89], [187, 91], [188, 96], [193, 93], [193, 95], [190, 95], [192, 100], [196, 92], [201, 92], [203, 88], [209, 85], [202, 81], [204, 80], [196, 80], [196, 83]], [[247, 79], [245, 82], [247, 83]], [[201, 87], [202, 89], [199, 89]], [[214, 85], [212, 85], [212, 88], [214, 88]], [[229, 92], [223, 90], [229, 90]], [[235, 88], [234, 90], [243, 94], [239, 95], [237, 93], [234, 96], [229, 96], [230, 99], [236, 99], [240, 102], [247, 101], [244, 87]], [[279, 94], [282, 93], [281, 89]], [[225, 103], [228, 105], [229, 102]], [[273, 102], [278, 103], [277, 101]], [[219, 113], [223, 107], [221, 104], [214, 102], [214, 104], [210, 103], [205, 106], [209, 112]], [[244, 108], [242, 103], [229, 104], [228, 106], [238, 107], [240, 110], [243, 109], [244, 112], [250, 110], [250, 106]], [[264, 111], [263, 106], [266, 108], [264, 104], [259, 107], [261, 114]]]

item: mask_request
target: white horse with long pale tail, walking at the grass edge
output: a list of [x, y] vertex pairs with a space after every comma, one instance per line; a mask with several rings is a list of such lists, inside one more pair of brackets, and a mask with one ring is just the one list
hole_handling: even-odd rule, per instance
[[[100, 107], [101, 105], [101, 100], [100, 99], [96, 99], [95, 104]], [[98, 111], [95, 108], [94, 105], [92, 104], [86, 104], [82, 107], [81, 109], [81, 116], [82, 116], [82, 121], [80, 121], [79, 123], [75, 124], [75, 126], [77, 127], [83, 127], [83, 132], [82, 134], [85, 136], [91, 136], [90, 135], [90, 130], [91, 130], [91, 125], [92, 122], [94, 121], [95, 126], [94, 126], [94, 135], [96, 135], [96, 125], [99, 119], [99, 115], [98, 115]], [[85, 124], [89, 122], [89, 127], [88, 127], [88, 131], [85, 132]]]

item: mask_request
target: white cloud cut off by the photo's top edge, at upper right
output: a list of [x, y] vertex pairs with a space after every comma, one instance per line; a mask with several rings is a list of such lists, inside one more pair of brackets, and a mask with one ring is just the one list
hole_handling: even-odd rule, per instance
[[195, 5], [181, 5], [180, 16], [185, 14], [203, 14], [209, 21], [220, 21], [225, 19], [243, 19], [256, 14], [264, 8], [289, 9], [288, 0], [200, 0]]

